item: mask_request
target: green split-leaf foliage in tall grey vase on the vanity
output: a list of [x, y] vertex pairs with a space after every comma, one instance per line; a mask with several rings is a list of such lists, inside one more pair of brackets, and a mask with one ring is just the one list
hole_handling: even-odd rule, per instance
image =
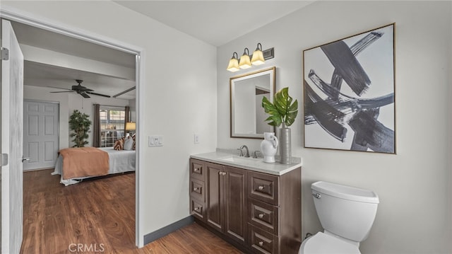
[[273, 103], [268, 98], [262, 98], [262, 107], [270, 116], [266, 119], [268, 125], [280, 128], [280, 163], [290, 164], [291, 144], [290, 125], [295, 122], [298, 114], [298, 101], [289, 96], [289, 88], [282, 88], [273, 96]]

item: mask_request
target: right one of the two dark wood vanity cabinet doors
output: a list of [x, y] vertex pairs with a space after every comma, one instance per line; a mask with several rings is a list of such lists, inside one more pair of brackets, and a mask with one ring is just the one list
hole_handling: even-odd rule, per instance
[[246, 171], [225, 167], [225, 233], [245, 243], [246, 236]]

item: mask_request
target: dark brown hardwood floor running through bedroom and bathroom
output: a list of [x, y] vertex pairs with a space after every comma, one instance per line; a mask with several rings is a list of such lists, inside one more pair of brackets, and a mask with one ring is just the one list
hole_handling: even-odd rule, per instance
[[20, 253], [241, 253], [196, 223], [138, 249], [135, 173], [64, 187], [52, 171], [24, 173]]

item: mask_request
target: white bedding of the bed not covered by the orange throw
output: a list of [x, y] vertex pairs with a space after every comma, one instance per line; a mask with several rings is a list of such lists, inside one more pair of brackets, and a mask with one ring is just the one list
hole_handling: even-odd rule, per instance
[[[94, 149], [94, 148], [90, 148]], [[57, 163], [55, 164], [55, 170], [52, 172], [52, 175], [61, 175], [60, 183], [68, 186], [75, 183], [81, 182], [81, 180], [86, 178], [93, 178], [101, 175], [109, 175], [109, 174], [117, 174], [135, 171], [135, 163], [136, 163], [136, 151], [135, 150], [114, 150], [113, 147], [102, 147], [95, 148], [99, 149], [100, 153], [105, 151], [107, 156], [107, 168], [105, 168], [104, 173], [93, 173], [85, 176], [71, 177], [64, 179], [64, 175], [69, 175], [67, 172], [71, 171], [71, 168], [64, 168], [64, 158], [59, 154], [57, 158]], [[61, 150], [60, 150], [61, 151]], [[67, 158], [67, 156], [66, 156]], [[98, 161], [96, 158], [95, 161]], [[93, 162], [95, 162], [93, 161]], [[88, 161], [89, 162], [89, 161]], [[65, 174], [66, 173], [66, 174]]]

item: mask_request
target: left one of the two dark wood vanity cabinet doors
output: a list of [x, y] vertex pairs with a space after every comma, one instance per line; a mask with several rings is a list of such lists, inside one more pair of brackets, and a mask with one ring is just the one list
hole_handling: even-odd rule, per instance
[[207, 168], [207, 224], [213, 226], [218, 231], [223, 231], [225, 225], [225, 216], [223, 214], [224, 207], [224, 191], [223, 181], [225, 170], [224, 167], [214, 163], [206, 163]]

